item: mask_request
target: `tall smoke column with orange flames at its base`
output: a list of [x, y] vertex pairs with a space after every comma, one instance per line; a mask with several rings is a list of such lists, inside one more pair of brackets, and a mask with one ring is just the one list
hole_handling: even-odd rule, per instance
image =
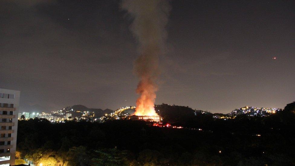
[[133, 17], [131, 31], [138, 39], [140, 56], [135, 61], [138, 75], [135, 115], [155, 116], [156, 79], [159, 75], [159, 56], [164, 53], [170, 5], [165, 0], [123, 0], [122, 8]]

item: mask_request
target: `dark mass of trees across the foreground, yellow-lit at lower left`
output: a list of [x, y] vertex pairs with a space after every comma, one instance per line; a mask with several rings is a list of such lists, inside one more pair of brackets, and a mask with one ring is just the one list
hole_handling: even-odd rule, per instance
[[267, 117], [223, 120], [200, 114], [177, 121], [186, 129], [130, 120], [21, 120], [17, 157], [64, 166], [294, 165], [294, 111], [290, 103]]

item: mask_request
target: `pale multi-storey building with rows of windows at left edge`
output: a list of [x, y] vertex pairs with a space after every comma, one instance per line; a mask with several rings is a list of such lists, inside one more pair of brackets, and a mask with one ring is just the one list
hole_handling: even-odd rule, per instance
[[20, 91], [0, 89], [0, 166], [15, 165]]

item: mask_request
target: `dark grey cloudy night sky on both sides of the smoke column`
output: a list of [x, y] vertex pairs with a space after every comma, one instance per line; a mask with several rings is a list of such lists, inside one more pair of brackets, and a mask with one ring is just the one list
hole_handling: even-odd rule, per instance
[[[137, 42], [119, 3], [1, 0], [0, 88], [50, 111], [134, 106]], [[156, 104], [228, 113], [295, 100], [295, 1], [171, 5]]]

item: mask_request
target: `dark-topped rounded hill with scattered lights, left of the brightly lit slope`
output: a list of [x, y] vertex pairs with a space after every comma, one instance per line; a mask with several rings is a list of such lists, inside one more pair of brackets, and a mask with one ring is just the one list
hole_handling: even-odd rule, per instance
[[96, 109], [96, 108], [87, 108], [86, 106], [83, 105], [73, 105], [73, 106], [68, 106], [66, 108], [57, 110], [53, 112], [53, 116], [65, 116], [66, 113], [71, 113], [72, 118], [74, 117], [101, 117], [105, 114], [109, 114], [112, 112], [111, 109]]

